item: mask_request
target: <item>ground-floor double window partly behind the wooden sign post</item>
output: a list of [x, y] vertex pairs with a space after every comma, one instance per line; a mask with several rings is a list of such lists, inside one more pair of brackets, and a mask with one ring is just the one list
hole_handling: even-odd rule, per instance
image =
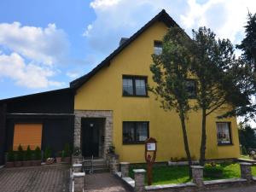
[[123, 143], [144, 143], [148, 138], [148, 122], [124, 121], [123, 122]]

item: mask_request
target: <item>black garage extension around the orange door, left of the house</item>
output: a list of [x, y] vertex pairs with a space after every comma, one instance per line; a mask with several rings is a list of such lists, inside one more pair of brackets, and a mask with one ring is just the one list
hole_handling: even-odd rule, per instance
[[[5, 117], [1, 113], [3, 104], [7, 107], [6, 125], [3, 125]], [[73, 90], [69, 89], [21, 96], [0, 103], [0, 144], [2, 136], [5, 136], [4, 147], [0, 145], [0, 157], [3, 157], [1, 146], [4, 152], [13, 146], [15, 123], [42, 123], [42, 149], [49, 146], [53, 155], [61, 151], [66, 143], [73, 147], [73, 106]], [[3, 158], [0, 159], [1, 165]]]

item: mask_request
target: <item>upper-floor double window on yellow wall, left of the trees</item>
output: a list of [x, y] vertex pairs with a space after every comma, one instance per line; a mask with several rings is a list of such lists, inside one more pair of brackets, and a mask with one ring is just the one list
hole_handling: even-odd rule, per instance
[[147, 77], [124, 75], [123, 96], [148, 96]]

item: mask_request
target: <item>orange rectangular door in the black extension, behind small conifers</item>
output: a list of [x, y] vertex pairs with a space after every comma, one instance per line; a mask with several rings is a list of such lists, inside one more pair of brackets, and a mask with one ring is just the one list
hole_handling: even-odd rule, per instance
[[17, 150], [19, 145], [23, 150], [26, 150], [28, 145], [32, 150], [37, 146], [41, 148], [42, 127], [42, 124], [15, 124], [14, 150]]

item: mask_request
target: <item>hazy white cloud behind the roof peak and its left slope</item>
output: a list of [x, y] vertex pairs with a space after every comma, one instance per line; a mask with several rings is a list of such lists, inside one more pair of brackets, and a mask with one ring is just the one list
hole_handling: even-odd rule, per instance
[[117, 48], [120, 38], [130, 37], [161, 9], [177, 20], [188, 8], [186, 0], [94, 0], [90, 7], [96, 20], [86, 27], [84, 38], [92, 49], [105, 55]]

